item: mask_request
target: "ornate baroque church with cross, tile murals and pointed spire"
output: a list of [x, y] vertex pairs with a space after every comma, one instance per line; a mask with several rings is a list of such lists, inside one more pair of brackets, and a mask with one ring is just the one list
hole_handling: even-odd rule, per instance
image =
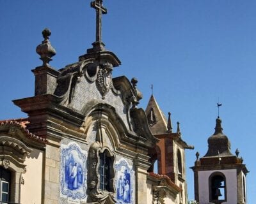
[[[51, 31], [36, 52], [35, 96], [13, 103], [27, 119], [0, 121], [2, 203], [187, 203], [179, 124], [172, 131], [154, 96], [138, 108], [138, 81], [112, 77], [121, 62], [101, 40], [102, 0], [96, 41], [79, 61], [55, 69]], [[154, 173], [154, 163], [158, 171]]]

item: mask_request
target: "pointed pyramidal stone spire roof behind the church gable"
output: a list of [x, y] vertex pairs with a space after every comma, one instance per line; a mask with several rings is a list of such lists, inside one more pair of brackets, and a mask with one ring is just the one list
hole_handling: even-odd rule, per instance
[[164, 113], [159, 108], [153, 94], [151, 95], [146, 108], [148, 124], [153, 135], [160, 135], [166, 133], [167, 122]]

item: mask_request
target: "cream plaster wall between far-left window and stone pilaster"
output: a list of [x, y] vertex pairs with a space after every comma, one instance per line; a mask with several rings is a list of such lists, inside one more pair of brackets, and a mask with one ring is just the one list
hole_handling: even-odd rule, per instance
[[20, 203], [40, 204], [42, 199], [43, 152], [33, 149], [24, 162], [26, 173], [22, 174], [24, 185], [20, 187]]

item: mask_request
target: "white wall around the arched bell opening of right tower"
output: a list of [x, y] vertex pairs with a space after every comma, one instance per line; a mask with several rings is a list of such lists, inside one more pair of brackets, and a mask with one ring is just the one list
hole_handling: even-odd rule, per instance
[[[209, 177], [216, 171], [199, 171], [198, 172], [198, 193], [199, 203], [209, 203]], [[218, 170], [226, 177], [227, 202], [223, 204], [237, 203], [237, 171], [236, 170]]]

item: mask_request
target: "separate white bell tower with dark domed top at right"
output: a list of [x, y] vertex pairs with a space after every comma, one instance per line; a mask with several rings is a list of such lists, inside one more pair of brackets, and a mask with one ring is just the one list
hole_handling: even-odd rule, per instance
[[246, 204], [246, 173], [243, 158], [230, 152], [230, 141], [223, 134], [221, 119], [216, 119], [215, 132], [208, 138], [208, 151], [203, 157], [196, 152], [194, 171], [195, 200], [200, 204]]

